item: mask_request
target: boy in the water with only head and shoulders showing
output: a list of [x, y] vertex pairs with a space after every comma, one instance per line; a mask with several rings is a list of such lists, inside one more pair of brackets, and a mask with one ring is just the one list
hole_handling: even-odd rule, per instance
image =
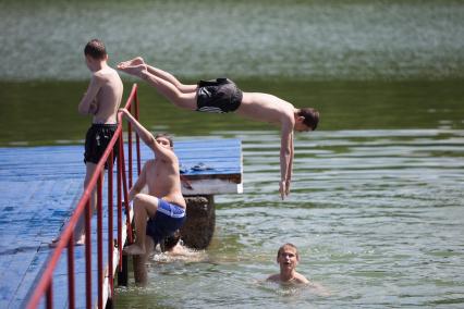
[[277, 251], [277, 262], [280, 267], [280, 273], [270, 275], [267, 281], [286, 283], [286, 284], [308, 284], [309, 281], [296, 272], [296, 265], [300, 262], [298, 250], [295, 245], [284, 244]]

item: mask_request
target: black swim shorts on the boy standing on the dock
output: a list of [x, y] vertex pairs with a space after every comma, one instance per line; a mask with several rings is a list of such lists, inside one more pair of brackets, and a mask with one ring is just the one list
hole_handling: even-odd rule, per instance
[[[118, 124], [93, 124], [85, 136], [84, 163], [91, 162], [97, 164], [103, 157], [108, 144], [114, 135]], [[113, 161], [119, 153], [119, 145], [114, 144]], [[105, 169], [108, 164], [105, 163]]]

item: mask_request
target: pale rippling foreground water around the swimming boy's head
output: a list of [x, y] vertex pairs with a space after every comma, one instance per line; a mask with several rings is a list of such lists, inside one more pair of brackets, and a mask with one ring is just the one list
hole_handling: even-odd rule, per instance
[[[245, 193], [217, 197], [207, 258], [155, 257], [148, 287], [119, 288], [118, 308], [464, 305], [464, 131], [298, 135], [285, 201], [278, 136], [234, 134], [244, 144]], [[286, 242], [300, 247], [300, 272], [331, 295], [262, 282]]]

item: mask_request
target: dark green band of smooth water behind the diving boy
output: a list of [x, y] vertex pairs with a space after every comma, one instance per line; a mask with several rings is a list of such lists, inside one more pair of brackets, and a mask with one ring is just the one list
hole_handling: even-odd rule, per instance
[[[190, 81], [192, 82], [192, 81]], [[464, 128], [463, 81], [314, 82], [237, 79], [244, 90], [264, 91], [321, 112], [319, 129]], [[0, 82], [0, 146], [81, 143], [89, 119], [77, 114], [86, 82]], [[125, 83], [125, 97], [132, 87]], [[139, 85], [141, 120], [175, 135], [216, 131], [278, 129], [235, 115], [192, 113]]]

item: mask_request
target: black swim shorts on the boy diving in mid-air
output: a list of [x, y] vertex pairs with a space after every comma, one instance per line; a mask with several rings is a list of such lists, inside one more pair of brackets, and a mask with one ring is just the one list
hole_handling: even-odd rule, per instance
[[242, 90], [231, 79], [199, 81], [196, 110], [210, 113], [233, 112], [240, 107], [242, 98]]

